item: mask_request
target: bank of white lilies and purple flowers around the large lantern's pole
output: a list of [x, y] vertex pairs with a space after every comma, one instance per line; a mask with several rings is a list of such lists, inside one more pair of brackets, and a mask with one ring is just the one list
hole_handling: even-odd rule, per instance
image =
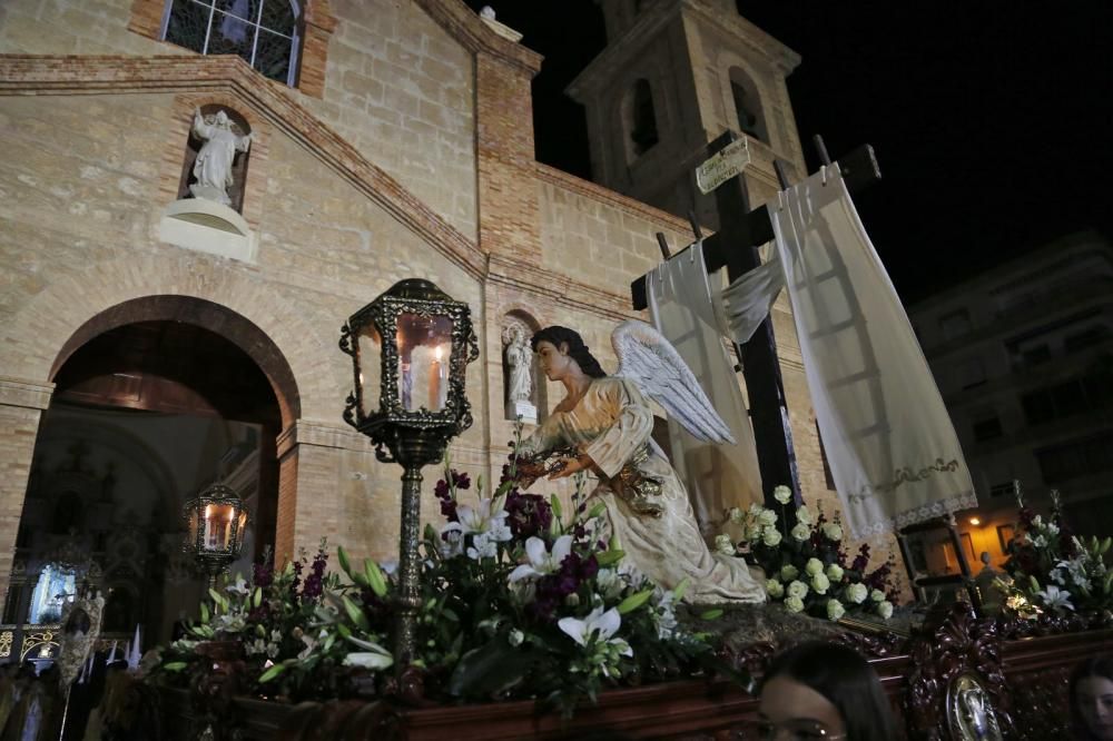
[[[519, 472], [519, 463], [523, 470]], [[602, 536], [601, 504], [578, 481], [569, 512], [556, 496], [525, 494], [544, 462], [511, 456], [492, 496], [467, 498], [470, 476], [446, 463], [435, 495], [445, 522], [421, 546], [417, 653], [426, 698], [532, 696], [563, 712], [604, 686], [710, 668], [747, 681], [716, 659], [712, 636], [677, 615], [684, 584], [664, 590], [623, 562]], [[482, 482], [476, 485], [482, 492]], [[395, 579], [339, 549], [346, 579], [325, 570], [322, 550], [282, 571], [256, 569], [210, 592], [190, 636], [164, 656], [162, 675], [205, 671], [199, 641], [237, 641], [248, 691], [302, 699], [390, 692]], [[700, 618], [713, 619], [720, 610]]]

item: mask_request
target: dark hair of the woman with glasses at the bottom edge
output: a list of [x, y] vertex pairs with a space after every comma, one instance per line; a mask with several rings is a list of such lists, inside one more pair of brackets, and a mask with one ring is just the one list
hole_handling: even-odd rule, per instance
[[809, 641], [786, 651], [769, 665], [762, 690], [777, 676], [811, 688], [835, 705], [846, 727], [847, 741], [890, 741], [897, 738], [893, 708], [881, 681], [854, 649]]

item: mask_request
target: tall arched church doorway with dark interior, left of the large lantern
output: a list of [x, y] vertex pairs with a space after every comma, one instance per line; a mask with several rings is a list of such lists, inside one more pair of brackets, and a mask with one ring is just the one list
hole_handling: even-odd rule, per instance
[[[213, 483], [250, 512], [246, 572], [275, 544], [275, 441], [298, 414], [293, 375], [244, 317], [178, 296], [136, 299], [82, 326], [55, 364], [36, 439], [3, 630], [24, 656], [82, 581], [106, 597], [121, 644], [169, 640], [206, 589], [183, 553], [181, 504]], [[39, 650], [37, 650], [38, 652]]]

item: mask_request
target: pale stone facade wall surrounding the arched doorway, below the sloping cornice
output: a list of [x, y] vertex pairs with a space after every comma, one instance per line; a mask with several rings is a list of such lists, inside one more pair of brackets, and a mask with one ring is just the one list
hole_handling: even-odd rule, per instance
[[[336, 348], [339, 325], [412, 276], [469, 302], [481, 319], [480, 284], [277, 130], [267, 167], [248, 176], [248, 187], [262, 194], [256, 264], [159, 243], [167, 204], [151, 194], [159, 192], [174, 110], [168, 93], [4, 98], [0, 376], [48, 385], [72, 333], [135, 297], [183, 295], [226, 306], [275, 342], [298, 386], [302, 418], [285, 434], [298, 446], [297, 493], [279, 502], [279, 522], [293, 528], [286, 541], [312, 547], [328, 536], [356, 554], [387, 557], [397, 537], [401, 473], [375, 462], [364, 437], [341, 422], [352, 378], [348, 358]], [[472, 373], [469, 382], [469, 396], [483, 398], [486, 379]], [[4, 425], [0, 449], [14, 456], [14, 466], [29, 461], [35, 422], [28, 415], [37, 412]], [[484, 416], [476, 414], [459, 441], [464, 461], [483, 460], [476, 452], [486, 449]], [[17, 481], [7, 477], [0, 486], [18, 487]], [[436, 512], [431, 491], [426, 513]], [[0, 513], [0, 537], [11, 542], [22, 492], [2, 495], [13, 506]]]

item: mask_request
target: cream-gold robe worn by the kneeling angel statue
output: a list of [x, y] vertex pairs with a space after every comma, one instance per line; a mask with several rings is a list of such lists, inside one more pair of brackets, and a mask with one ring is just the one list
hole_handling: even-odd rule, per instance
[[708, 550], [684, 485], [650, 445], [653, 413], [632, 382], [594, 378], [575, 406], [563, 406], [519, 453], [570, 445], [588, 454], [603, 474], [592, 496], [605, 504], [631, 565], [666, 589], [688, 579], [687, 602], [765, 602], [759, 569]]

